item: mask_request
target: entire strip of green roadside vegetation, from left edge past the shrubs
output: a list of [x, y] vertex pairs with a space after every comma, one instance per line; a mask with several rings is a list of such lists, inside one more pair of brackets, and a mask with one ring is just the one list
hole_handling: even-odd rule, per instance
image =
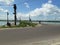
[[20, 27], [35, 27], [37, 24], [36, 23], [32, 23], [30, 21], [20, 21], [18, 25], [11, 25], [11, 26], [7, 26], [7, 25], [3, 25], [0, 26], [0, 28], [20, 28]]

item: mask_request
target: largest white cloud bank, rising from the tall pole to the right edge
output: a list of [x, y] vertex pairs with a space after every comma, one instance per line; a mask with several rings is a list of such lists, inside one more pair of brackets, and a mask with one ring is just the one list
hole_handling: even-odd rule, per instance
[[41, 8], [36, 8], [35, 10], [27, 13], [27, 14], [23, 14], [23, 13], [18, 13], [18, 17], [23, 16], [23, 17], [28, 17], [29, 14], [31, 16], [39, 16], [39, 15], [44, 15], [44, 16], [48, 16], [48, 15], [60, 15], [60, 8], [58, 8], [57, 6], [50, 4], [50, 3], [46, 3], [43, 4]]

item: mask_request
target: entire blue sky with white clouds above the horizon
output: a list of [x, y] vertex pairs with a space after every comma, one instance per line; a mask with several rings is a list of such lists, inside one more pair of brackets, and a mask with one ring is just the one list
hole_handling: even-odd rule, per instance
[[60, 20], [60, 0], [0, 0], [0, 20], [14, 20], [13, 4], [17, 6], [17, 19]]

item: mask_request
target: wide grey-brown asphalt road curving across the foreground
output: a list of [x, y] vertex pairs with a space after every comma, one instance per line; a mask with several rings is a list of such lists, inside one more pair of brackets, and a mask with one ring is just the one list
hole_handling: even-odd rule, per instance
[[60, 38], [60, 26], [58, 25], [0, 29], [0, 45], [27, 45], [28, 43], [54, 38]]

